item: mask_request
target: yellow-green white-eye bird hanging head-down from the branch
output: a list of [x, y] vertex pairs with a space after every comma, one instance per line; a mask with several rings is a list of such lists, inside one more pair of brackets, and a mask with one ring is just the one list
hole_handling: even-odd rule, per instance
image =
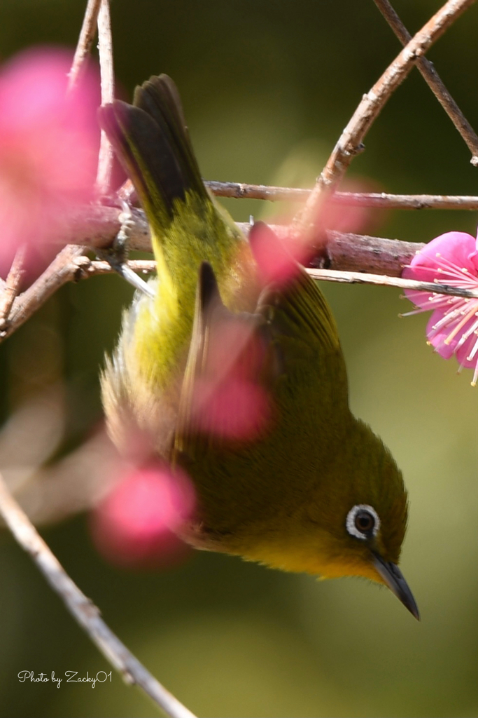
[[[418, 618], [397, 567], [408, 511], [403, 478], [381, 439], [350, 412], [337, 327], [317, 284], [298, 266], [287, 281], [258, 281], [254, 236], [269, 230], [254, 228], [248, 243], [209, 195], [168, 76], [137, 88], [133, 105], [102, 108], [100, 122], [138, 192], [157, 262], [153, 297], [136, 294], [102, 374], [113, 440], [128, 449], [141, 434], [186, 470], [199, 508], [183, 536], [196, 548], [325, 578], [367, 577]], [[285, 252], [278, 240], [275, 249]], [[211, 360], [221, 322], [239, 327], [239, 339], [226, 332]], [[251, 340], [259, 358], [244, 353]], [[207, 429], [218, 415], [202, 426], [197, 419], [208, 362], [221, 373], [217, 365], [228, 361], [241, 376], [246, 367], [267, 396], [269, 420], [257, 432], [229, 436]], [[230, 404], [231, 416], [238, 406]]]

